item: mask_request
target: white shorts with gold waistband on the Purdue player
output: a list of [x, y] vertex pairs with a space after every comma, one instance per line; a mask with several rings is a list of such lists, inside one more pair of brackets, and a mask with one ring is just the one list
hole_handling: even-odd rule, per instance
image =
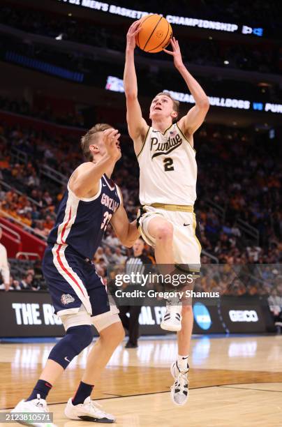
[[[177, 209], [183, 210], [177, 210]], [[184, 211], [186, 209], [187, 211]], [[189, 210], [189, 211], [188, 211]], [[148, 232], [149, 221], [161, 216], [173, 225], [173, 252], [175, 264], [188, 265], [189, 271], [200, 271], [200, 253], [202, 246], [196, 234], [199, 227], [193, 207], [158, 204], [144, 205], [138, 211], [139, 231], [144, 241], [155, 247], [156, 239]]]

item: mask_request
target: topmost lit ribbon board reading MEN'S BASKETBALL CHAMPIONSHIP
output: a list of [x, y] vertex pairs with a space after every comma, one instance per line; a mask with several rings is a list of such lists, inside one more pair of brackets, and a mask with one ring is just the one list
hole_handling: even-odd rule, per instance
[[[90, 8], [94, 10], [99, 10], [101, 12], [112, 13], [113, 15], [120, 15], [124, 17], [129, 17], [133, 20], [139, 20], [145, 15], [149, 15], [149, 12], [144, 12], [142, 10], [134, 10], [123, 8], [121, 6], [116, 6], [110, 3], [103, 3], [101, 1], [95, 0], [57, 0], [61, 3], [73, 4], [75, 6], [81, 6], [84, 8]], [[161, 13], [159, 15], [162, 15]], [[246, 25], [241, 24], [230, 24], [228, 22], [218, 22], [218, 21], [209, 21], [201, 20], [199, 18], [191, 18], [184, 16], [176, 15], [165, 15], [165, 18], [170, 22], [170, 24], [184, 25], [184, 27], [198, 27], [203, 29], [211, 29], [216, 31], [228, 31], [231, 33], [242, 33], [242, 34], [254, 34], [255, 36], [262, 37], [263, 29], [262, 28], [252, 28], [247, 27]]]

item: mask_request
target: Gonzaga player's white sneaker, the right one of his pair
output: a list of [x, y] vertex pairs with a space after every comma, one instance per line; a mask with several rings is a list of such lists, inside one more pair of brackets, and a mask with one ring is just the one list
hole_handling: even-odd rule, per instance
[[90, 396], [84, 400], [84, 403], [73, 405], [72, 399], [68, 399], [65, 407], [65, 415], [71, 419], [82, 419], [82, 421], [91, 421], [93, 423], [114, 423], [114, 416], [100, 410], [97, 402], [91, 400]]

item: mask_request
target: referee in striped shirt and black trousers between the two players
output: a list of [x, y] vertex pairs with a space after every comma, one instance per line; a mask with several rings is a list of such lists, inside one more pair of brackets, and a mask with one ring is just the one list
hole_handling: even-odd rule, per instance
[[[128, 257], [125, 264], [125, 273], [140, 273], [147, 274], [147, 264], [152, 264], [149, 257], [143, 255], [144, 253], [144, 240], [139, 238], [135, 241], [133, 245], [133, 255]], [[136, 283], [129, 283], [125, 289], [133, 290], [144, 290], [140, 285]], [[119, 306], [119, 317], [125, 329], [128, 330], [128, 342], [126, 343], [126, 348], [136, 348], [138, 347], [138, 337], [139, 337], [139, 322], [138, 318], [141, 312], [142, 301], [140, 299], [133, 299], [135, 304], [138, 305], [128, 305], [128, 306]], [[129, 313], [130, 317], [126, 316], [126, 313]]]

